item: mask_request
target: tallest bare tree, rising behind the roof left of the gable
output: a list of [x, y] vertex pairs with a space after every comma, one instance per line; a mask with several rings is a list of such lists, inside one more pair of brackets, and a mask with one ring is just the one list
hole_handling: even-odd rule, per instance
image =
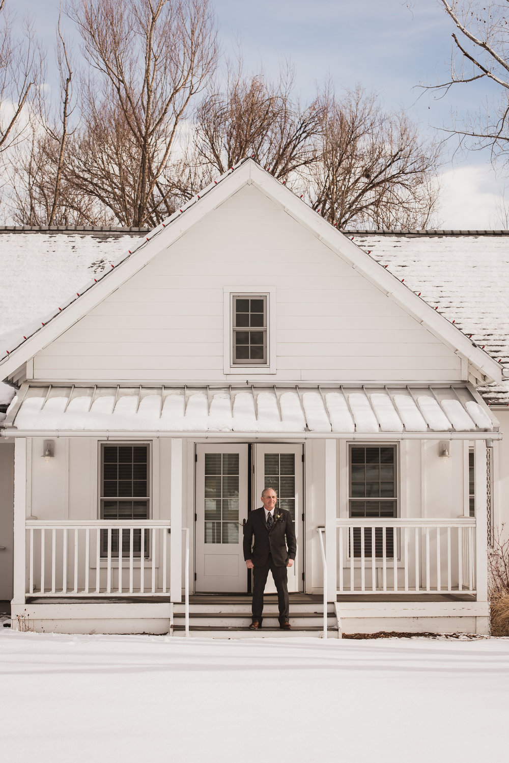
[[156, 224], [179, 123], [216, 67], [209, 0], [72, 0], [69, 14], [91, 67], [72, 182], [120, 224]]

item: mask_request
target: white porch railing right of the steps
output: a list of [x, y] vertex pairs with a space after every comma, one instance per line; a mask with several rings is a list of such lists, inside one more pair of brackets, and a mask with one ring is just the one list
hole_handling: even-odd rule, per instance
[[475, 594], [475, 519], [336, 520], [338, 594]]

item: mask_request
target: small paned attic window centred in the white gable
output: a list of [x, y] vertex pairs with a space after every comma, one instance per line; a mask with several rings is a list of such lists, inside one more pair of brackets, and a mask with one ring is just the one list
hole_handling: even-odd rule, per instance
[[267, 295], [232, 295], [232, 365], [267, 365]]

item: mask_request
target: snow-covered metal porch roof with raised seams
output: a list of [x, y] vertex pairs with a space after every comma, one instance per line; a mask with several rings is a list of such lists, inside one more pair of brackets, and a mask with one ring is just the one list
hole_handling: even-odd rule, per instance
[[[465, 385], [52, 386], [24, 384], [5, 427], [34, 432], [486, 433]], [[14, 433], [14, 430], [11, 430]]]

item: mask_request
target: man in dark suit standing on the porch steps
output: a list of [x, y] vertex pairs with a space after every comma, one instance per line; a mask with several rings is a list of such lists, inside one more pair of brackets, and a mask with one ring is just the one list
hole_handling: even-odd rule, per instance
[[244, 528], [244, 559], [248, 569], [253, 571], [252, 622], [249, 629], [261, 628], [265, 583], [271, 570], [276, 584], [279, 625], [283, 630], [290, 630], [287, 567], [292, 567], [295, 560], [295, 528], [289, 511], [276, 510], [275, 490], [265, 488], [261, 494], [261, 502], [264, 505], [249, 513]]

